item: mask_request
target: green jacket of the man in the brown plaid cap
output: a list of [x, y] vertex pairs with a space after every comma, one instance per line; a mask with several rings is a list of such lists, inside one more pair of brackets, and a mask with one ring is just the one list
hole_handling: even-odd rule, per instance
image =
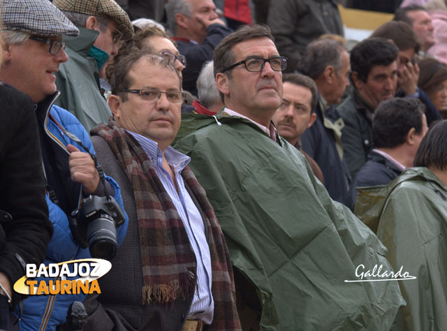
[[89, 56], [99, 32], [84, 28], [79, 31], [78, 37], [64, 36], [68, 61], [59, 66], [56, 74], [61, 95], [55, 104], [75, 115], [89, 132], [98, 123], [108, 123], [112, 113], [99, 90], [96, 60]]

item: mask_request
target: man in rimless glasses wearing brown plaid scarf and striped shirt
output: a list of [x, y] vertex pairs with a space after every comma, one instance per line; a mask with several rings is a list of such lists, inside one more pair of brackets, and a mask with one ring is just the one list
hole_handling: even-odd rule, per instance
[[111, 72], [113, 117], [91, 140], [122, 187], [129, 231], [85, 301], [85, 330], [241, 330], [223, 233], [189, 157], [170, 147], [185, 97], [176, 69], [133, 49]]

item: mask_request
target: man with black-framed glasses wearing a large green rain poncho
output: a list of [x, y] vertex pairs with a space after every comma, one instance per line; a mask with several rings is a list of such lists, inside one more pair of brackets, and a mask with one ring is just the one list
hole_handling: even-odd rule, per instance
[[345, 282], [359, 280], [359, 265], [392, 270], [385, 247], [271, 123], [286, 64], [268, 27], [224, 38], [214, 74], [225, 108], [185, 115], [175, 145], [191, 156], [226, 235], [242, 328], [388, 330], [404, 304], [397, 283]]

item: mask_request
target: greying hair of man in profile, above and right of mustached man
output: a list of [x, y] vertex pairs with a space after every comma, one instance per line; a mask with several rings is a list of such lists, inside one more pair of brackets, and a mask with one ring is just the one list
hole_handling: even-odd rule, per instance
[[337, 75], [343, 66], [344, 47], [338, 41], [321, 39], [307, 45], [298, 69], [301, 73], [316, 80], [327, 66], [333, 66]]

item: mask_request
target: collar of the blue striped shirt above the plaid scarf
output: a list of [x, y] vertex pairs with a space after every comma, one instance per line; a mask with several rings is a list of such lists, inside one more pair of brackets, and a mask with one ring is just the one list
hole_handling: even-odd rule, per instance
[[[140, 135], [129, 130], [126, 131], [129, 132], [133, 136], [133, 138], [138, 141], [149, 159], [156, 160], [157, 162], [159, 161], [159, 159], [161, 160], [162, 153], [161, 149], [159, 149], [159, 144], [154, 142], [154, 140], [145, 137], [144, 135]], [[180, 153], [170, 146], [168, 146], [168, 148], [166, 148], [165, 150], [165, 159], [166, 161], [168, 161], [169, 165], [175, 169], [175, 172], [182, 171], [186, 167], [186, 165], [188, 165], [189, 161], [191, 161], [191, 158], [189, 156]], [[161, 163], [159, 165], [161, 166]]]

